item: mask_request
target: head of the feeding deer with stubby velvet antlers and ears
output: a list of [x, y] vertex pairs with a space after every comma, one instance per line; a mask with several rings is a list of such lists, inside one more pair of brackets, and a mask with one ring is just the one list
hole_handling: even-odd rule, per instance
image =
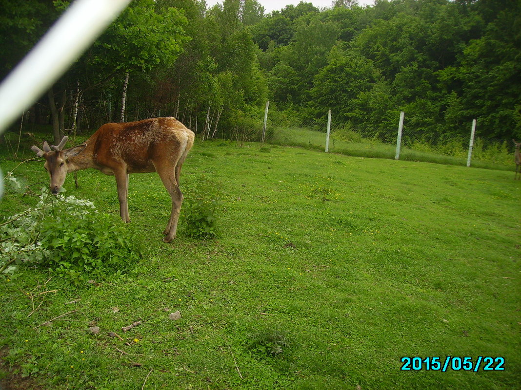
[[52, 145], [51, 147], [49, 147], [47, 141], [44, 141], [43, 150], [35, 145], [31, 148], [38, 157], [45, 159], [44, 167], [51, 179], [49, 188], [51, 188], [51, 192], [54, 195], [59, 192], [65, 182], [65, 177], [67, 176], [67, 159], [80, 154], [87, 146], [87, 144], [82, 144], [62, 150], [68, 139], [69, 137], [65, 136], [61, 139], [58, 146]]

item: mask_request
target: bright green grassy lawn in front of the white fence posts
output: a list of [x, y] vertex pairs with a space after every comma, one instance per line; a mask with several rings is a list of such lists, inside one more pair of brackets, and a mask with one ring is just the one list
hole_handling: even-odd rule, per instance
[[[2, 161], [4, 174], [16, 164]], [[42, 162], [15, 174], [48, 184]], [[170, 198], [156, 174], [131, 175], [141, 262], [80, 288], [27, 267], [0, 279], [1, 375], [49, 390], [520, 388], [513, 177], [197, 141], [181, 188], [185, 199], [202, 180], [220, 190], [219, 237], [190, 239], [181, 222], [163, 243]], [[75, 189], [68, 177], [66, 194], [119, 215], [113, 177], [78, 179]], [[0, 216], [37, 201], [8, 189]], [[275, 332], [282, 353], [260, 352]], [[504, 357], [504, 370], [402, 371], [402, 357], [415, 356]]]

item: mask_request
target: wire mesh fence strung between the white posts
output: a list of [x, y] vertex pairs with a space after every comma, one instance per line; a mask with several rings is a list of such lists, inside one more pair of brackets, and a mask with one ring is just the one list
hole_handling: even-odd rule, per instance
[[[268, 119], [270, 113], [268, 113]], [[478, 124], [479, 126], [479, 124]], [[403, 125], [400, 160], [466, 165], [469, 152], [472, 123], [464, 124], [467, 135], [426, 133], [407, 126], [407, 114]], [[332, 114], [329, 152], [358, 157], [396, 158], [399, 118], [395, 127], [373, 128], [352, 126], [335, 121]], [[326, 149], [327, 115], [324, 119], [295, 119], [293, 125], [268, 126], [267, 141], [285, 146]], [[476, 136], [470, 165], [476, 167], [514, 170], [514, 144], [510, 140]]]

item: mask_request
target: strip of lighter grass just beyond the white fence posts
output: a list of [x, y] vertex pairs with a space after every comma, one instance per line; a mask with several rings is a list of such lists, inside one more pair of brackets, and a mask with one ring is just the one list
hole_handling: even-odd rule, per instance
[[[355, 133], [353, 133], [356, 135]], [[329, 140], [329, 152], [341, 153], [355, 157], [369, 157], [378, 159], [394, 159], [396, 154], [395, 144], [384, 144], [377, 138], [363, 138], [358, 135], [357, 140], [345, 141], [337, 139], [336, 134], [331, 134]], [[325, 150], [326, 134], [318, 131], [313, 131], [307, 128], [288, 128], [278, 127], [274, 129], [274, 136], [270, 141], [275, 145], [281, 146], [299, 146], [312, 150]], [[457, 142], [454, 142], [457, 144]], [[496, 151], [492, 149], [487, 153], [483, 152], [482, 141], [476, 144], [479, 150], [476, 149], [473, 155], [471, 165], [477, 168], [495, 169], [513, 171], [514, 155], [505, 155], [505, 152]], [[422, 161], [436, 164], [451, 164], [451, 165], [466, 165], [468, 150], [458, 146], [457, 150], [450, 150], [451, 153], [437, 153], [428, 144], [423, 144], [419, 141], [413, 142], [410, 147], [402, 145], [400, 150], [400, 160], [403, 161]], [[483, 158], [479, 159], [478, 156]], [[486, 157], [486, 158], [485, 158]], [[505, 161], [512, 162], [511, 164]]]

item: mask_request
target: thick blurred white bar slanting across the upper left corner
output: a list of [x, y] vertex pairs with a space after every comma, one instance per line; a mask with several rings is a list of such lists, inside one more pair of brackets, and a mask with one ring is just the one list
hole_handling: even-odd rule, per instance
[[130, 0], [77, 0], [0, 85], [0, 133], [105, 30]]

